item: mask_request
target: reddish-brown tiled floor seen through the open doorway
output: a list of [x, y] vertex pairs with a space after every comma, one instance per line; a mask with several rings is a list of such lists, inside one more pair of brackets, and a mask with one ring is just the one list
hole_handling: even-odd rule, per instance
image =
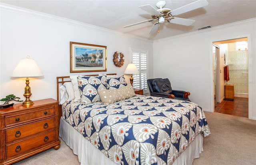
[[248, 118], [248, 98], [235, 97], [234, 101], [223, 100], [215, 106], [214, 111]]

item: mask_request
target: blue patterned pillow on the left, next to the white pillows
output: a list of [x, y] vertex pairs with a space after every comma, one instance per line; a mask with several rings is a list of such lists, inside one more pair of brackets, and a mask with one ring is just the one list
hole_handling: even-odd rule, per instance
[[93, 103], [100, 101], [98, 89], [106, 89], [106, 76], [78, 76], [78, 88], [81, 101], [85, 103]]

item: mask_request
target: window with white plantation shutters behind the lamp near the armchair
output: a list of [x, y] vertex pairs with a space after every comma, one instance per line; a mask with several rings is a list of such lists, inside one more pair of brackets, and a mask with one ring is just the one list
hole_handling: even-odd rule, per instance
[[143, 89], [147, 92], [147, 51], [132, 49], [132, 63], [134, 63], [140, 73], [133, 74], [133, 87], [137, 89]]

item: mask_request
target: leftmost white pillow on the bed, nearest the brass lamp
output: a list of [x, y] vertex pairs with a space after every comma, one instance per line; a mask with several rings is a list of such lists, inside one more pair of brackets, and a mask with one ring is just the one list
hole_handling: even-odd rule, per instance
[[60, 104], [64, 104], [67, 100], [74, 98], [74, 88], [71, 82], [66, 82], [60, 86]]

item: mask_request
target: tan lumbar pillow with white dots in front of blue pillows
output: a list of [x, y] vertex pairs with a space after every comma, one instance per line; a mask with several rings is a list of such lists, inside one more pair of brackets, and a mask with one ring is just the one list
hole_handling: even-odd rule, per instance
[[101, 102], [106, 105], [136, 96], [131, 85], [118, 89], [99, 89], [98, 93]]

